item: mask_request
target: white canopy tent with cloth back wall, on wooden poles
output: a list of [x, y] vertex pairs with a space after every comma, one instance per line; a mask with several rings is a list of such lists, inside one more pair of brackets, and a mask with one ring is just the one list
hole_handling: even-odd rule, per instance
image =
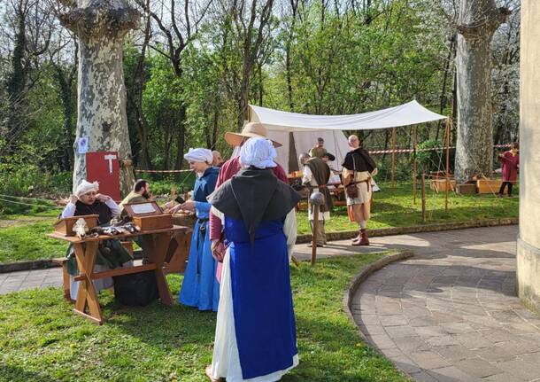
[[[318, 137], [324, 139], [327, 151], [336, 155], [334, 167], [341, 170], [345, 154], [350, 151], [343, 130], [390, 129], [445, 118], [444, 115], [429, 111], [416, 100], [375, 112], [351, 115], [289, 113], [250, 105], [250, 121], [263, 123], [268, 137], [282, 144], [277, 149], [276, 161], [287, 173], [290, 154], [294, 153], [297, 157], [301, 152], [308, 152]], [[294, 145], [290, 142], [291, 135]], [[297, 158], [295, 160], [297, 162]]]

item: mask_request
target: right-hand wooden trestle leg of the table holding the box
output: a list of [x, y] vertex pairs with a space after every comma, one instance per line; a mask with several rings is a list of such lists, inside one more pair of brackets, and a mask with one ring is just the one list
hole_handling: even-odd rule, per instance
[[143, 238], [149, 250], [148, 260], [150, 263], [156, 264], [156, 282], [158, 284], [159, 299], [166, 305], [173, 305], [173, 295], [167, 284], [163, 269], [167, 248], [171, 241], [171, 232], [153, 233], [145, 235]]

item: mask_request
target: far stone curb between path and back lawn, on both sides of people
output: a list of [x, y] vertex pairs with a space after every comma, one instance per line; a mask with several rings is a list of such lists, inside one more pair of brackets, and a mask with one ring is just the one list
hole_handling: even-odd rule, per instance
[[[439, 230], [463, 230], [467, 228], [495, 227], [499, 225], [513, 225], [520, 221], [517, 218], [502, 219], [482, 219], [471, 222], [442, 222], [437, 224], [413, 225], [410, 227], [381, 228], [377, 230], [367, 230], [367, 235], [371, 238], [381, 236], [405, 235], [409, 233], [436, 232]], [[347, 240], [358, 235], [358, 230], [343, 230], [341, 232], [328, 232], [327, 238], [330, 241]], [[312, 241], [312, 235], [298, 235], [297, 244], [305, 244]], [[141, 255], [134, 253], [135, 260], [142, 259]], [[56, 268], [58, 264], [50, 260], [17, 261], [0, 263], [0, 273], [16, 272], [19, 270]]]

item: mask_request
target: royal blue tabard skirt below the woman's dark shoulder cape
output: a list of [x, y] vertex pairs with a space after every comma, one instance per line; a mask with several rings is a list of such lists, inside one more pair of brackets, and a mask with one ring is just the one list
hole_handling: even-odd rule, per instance
[[225, 232], [243, 378], [288, 370], [298, 351], [283, 221], [262, 222], [254, 243], [240, 220], [226, 216]]

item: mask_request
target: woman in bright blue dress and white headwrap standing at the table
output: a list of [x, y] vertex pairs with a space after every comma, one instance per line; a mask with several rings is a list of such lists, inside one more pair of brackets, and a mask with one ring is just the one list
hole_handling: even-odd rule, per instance
[[212, 152], [207, 149], [189, 149], [184, 155], [189, 168], [197, 174], [193, 198], [172, 210], [195, 211], [197, 222], [193, 228], [189, 260], [178, 301], [199, 310], [218, 310], [220, 285], [216, 278], [217, 261], [212, 257], [208, 238], [210, 203], [206, 198], [213, 192], [218, 180], [219, 168], [212, 168]]

